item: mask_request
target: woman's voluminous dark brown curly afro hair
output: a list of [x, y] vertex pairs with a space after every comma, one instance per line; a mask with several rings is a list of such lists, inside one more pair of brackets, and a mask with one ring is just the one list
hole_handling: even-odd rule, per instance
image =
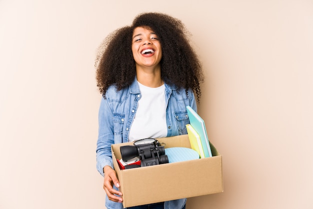
[[199, 101], [199, 83], [204, 80], [201, 64], [189, 43], [189, 33], [184, 24], [172, 16], [158, 12], [137, 15], [130, 26], [110, 33], [99, 47], [96, 57], [96, 81], [100, 93], [114, 84], [117, 90], [133, 81], [136, 68], [131, 50], [134, 28], [138, 26], [153, 30], [162, 46], [160, 60], [161, 78], [178, 88], [191, 88]]

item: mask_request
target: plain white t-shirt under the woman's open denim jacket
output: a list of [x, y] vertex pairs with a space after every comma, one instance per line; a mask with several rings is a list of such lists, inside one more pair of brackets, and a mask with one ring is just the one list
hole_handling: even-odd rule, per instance
[[151, 88], [139, 83], [141, 98], [129, 131], [129, 140], [166, 137], [166, 105], [164, 84]]

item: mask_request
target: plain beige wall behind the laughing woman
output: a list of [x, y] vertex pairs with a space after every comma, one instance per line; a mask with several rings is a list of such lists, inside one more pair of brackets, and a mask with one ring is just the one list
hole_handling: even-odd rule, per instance
[[0, 208], [103, 208], [96, 48], [167, 12], [203, 62], [224, 192], [187, 208], [313, 208], [311, 0], [0, 0]]

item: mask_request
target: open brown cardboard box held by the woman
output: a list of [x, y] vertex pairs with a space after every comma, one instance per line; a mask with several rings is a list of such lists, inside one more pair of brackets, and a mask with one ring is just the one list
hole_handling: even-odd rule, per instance
[[[191, 147], [187, 134], [157, 140], [165, 148]], [[211, 143], [212, 157], [121, 170], [116, 159], [123, 145], [133, 142], [112, 144], [111, 150], [124, 207], [223, 191], [221, 155]]]

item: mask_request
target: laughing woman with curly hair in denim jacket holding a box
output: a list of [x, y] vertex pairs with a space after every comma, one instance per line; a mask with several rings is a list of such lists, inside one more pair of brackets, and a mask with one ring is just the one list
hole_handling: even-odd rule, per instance
[[[97, 169], [104, 176], [105, 205], [117, 209], [123, 208], [122, 193], [110, 145], [186, 134], [186, 105], [196, 110], [203, 74], [184, 25], [163, 13], [139, 14], [130, 26], [108, 35], [100, 49]], [[185, 202], [177, 199], [131, 208], [180, 209]]]

